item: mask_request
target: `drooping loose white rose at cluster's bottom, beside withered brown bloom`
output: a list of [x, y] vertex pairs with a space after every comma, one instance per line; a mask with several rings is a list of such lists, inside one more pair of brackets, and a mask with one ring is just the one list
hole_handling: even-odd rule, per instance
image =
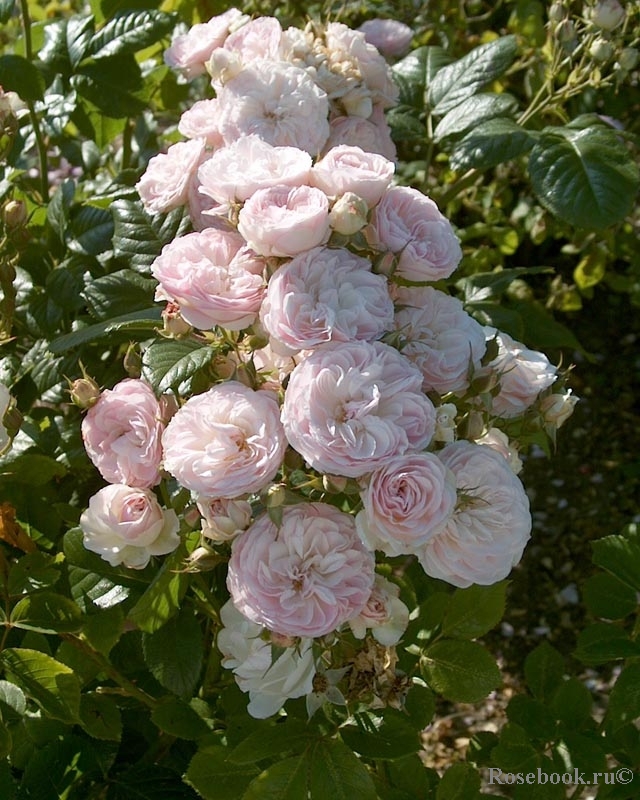
[[244, 617], [231, 600], [220, 609], [224, 627], [217, 645], [222, 666], [233, 670], [236, 683], [249, 693], [247, 711], [266, 719], [279, 711], [289, 698], [303, 697], [313, 688], [316, 672], [311, 639], [285, 648], [275, 661], [272, 643], [262, 638], [262, 626]]

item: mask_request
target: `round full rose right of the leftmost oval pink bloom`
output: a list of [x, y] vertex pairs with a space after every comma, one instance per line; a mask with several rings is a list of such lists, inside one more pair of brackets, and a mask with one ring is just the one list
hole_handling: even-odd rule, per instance
[[208, 497], [258, 492], [276, 475], [286, 448], [278, 403], [238, 381], [191, 397], [162, 438], [164, 467]]

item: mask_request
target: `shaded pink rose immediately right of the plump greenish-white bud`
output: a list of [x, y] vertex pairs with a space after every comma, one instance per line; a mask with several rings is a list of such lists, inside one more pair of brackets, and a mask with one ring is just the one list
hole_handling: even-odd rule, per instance
[[462, 258], [458, 237], [437, 205], [417, 189], [392, 186], [365, 229], [370, 245], [398, 258], [396, 275], [425, 282], [448, 278]]

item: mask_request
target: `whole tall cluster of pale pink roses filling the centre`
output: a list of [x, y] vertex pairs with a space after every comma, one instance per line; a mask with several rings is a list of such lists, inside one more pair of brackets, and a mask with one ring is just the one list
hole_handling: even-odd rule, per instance
[[392, 702], [409, 612], [376, 556], [458, 587], [508, 575], [531, 518], [505, 431], [558, 425], [573, 403], [543, 354], [443, 290], [461, 247], [394, 182], [397, 92], [366, 35], [231, 9], [174, 39], [167, 63], [208, 73], [215, 96], [137, 189], [148, 212], [192, 221], [151, 268], [165, 319], [224, 357], [199, 393], [124, 380], [82, 426], [109, 483], [82, 515], [85, 546], [144, 567], [179, 537], [154, 487], [188, 490], [182, 532], [229, 557], [217, 646], [257, 717], [287, 698], [344, 703], [337, 683], [356, 686], [361, 662], [373, 702]]

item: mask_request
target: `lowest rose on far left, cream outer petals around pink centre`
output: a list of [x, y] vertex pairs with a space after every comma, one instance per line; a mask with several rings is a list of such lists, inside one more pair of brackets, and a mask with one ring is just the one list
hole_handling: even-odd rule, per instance
[[163, 509], [149, 489], [112, 484], [89, 500], [80, 516], [82, 543], [112, 567], [143, 569], [151, 556], [180, 544], [176, 512]]

